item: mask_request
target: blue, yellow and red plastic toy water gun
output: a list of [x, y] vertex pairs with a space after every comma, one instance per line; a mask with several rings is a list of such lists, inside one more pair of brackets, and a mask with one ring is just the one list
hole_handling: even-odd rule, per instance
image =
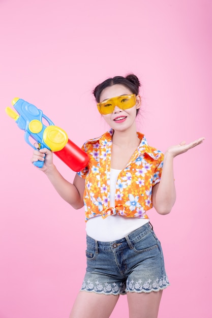
[[[18, 114], [10, 107], [6, 107], [6, 113], [16, 121], [21, 130], [25, 131], [24, 139], [27, 144], [36, 149], [29, 140], [31, 137], [39, 144], [39, 149], [47, 148], [53, 151], [73, 171], [80, 171], [86, 167], [87, 154], [68, 138], [63, 129], [55, 126], [42, 110], [19, 98], [14, 98], [12, 105]], [[42, 122], [43, 118], [49, 125], [46, 126]], [[44, 162], [37, 161], [33, 164], [42, 168]]]

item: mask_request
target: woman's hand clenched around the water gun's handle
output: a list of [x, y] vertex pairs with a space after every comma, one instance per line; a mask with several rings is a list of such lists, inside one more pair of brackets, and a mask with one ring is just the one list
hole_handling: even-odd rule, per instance
[[53, 155], [51, 150], [47, 149], [47, 148], [43, 148], [39, 150], [39, 145], [38, 143], [35, 143], [34, 146], [38, 149], [38, 150], [34, 150], [33, 151], [33, 156], [31, 158], [31, 162], [37, 162], [38, 160], [40, 161], [44, 161], [44, 165], [42, 168], [39, 168], [39, 170], [43, 171], [43, 172], [47, 172], [47, 170], [49, 170], [50, 168], [52, 168], [53, 165]]

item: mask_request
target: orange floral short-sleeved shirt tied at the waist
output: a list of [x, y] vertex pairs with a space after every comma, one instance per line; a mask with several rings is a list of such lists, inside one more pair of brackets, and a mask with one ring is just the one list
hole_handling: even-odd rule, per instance
[[85, 179], [85, 220], [102, 215], [124, 215], [148, 218], [152, 208], [152, 188], [160, 182], [163, 153], [150, 147], [141, 133], [141, 140], [126, 168], [117, 178], [115, 206], [110, 207], [110, 159], [113, 130], [103, 136], [88, 140], [82, 149], [88, 154], [88, 166], [78, 175]]

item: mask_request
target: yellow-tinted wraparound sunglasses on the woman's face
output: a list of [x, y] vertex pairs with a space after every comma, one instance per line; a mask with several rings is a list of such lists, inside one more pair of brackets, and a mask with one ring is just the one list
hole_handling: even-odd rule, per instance
[[131, 95], [122, 95], [118, 97], [113, 97], [108, 100], [105, 100], [101, 103], [97, 104], [98, 110], [100, 114], [107, 115], [111, 114], [115, 106], [117, 106], [120, 109], [128, 109], [132, 108], [136, 104], [136, 96], [135, 94]]

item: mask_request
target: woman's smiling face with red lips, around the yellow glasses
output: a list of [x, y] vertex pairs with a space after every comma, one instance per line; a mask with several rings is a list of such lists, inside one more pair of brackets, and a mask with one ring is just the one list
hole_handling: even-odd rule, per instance
[[[132, 91], [122, 84], [115, 84], [113, 86], [108, 86], [100, 94], [100, 103], [104, 100], [118, 97], [122, 95], [130, 95]], [[102, 115], [109, 126], [118, 131], [124, 131], [135, 124], [136, 111], [141, 106], [141, 98], [139, 95], [136, 96], [136, 104], [132, 108], [120, 109], [115, 106], [111, 114]]]

